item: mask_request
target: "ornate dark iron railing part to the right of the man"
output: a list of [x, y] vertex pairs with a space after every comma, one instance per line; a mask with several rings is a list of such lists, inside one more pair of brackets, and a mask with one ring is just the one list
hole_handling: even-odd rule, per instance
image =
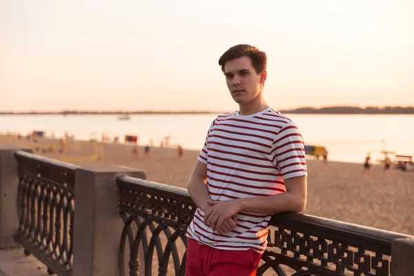
[[270, 220], [268, 246], [257, 275], [390, 275], [391, 244], [400, 237], [383, 230], [302, 214]]

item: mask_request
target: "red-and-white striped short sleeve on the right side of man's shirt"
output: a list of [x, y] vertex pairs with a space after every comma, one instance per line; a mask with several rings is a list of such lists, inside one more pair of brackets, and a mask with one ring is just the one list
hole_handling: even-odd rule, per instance
[[295, 123], [290, 121], [279, 130], [270, 157], [284, 179], [308, 175], [304, 140]]

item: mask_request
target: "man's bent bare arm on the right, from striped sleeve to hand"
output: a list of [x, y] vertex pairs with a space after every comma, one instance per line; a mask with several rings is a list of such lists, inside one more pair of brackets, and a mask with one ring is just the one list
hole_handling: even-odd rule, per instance
[[306, 207], [307, 177], [292, 177], [284, 180], [286, 192], [268, 197], [250, 197], [225, 201], [211, 201], [204, 216], [204, 224], [215, 230], [221, 227], [224, 219], [239, 212], [275, 214], [283, 212], [302, 212]]

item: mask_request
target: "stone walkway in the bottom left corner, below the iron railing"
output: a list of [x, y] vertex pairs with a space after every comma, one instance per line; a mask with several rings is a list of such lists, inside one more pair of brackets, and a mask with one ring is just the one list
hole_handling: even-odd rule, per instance
[[0, 276], [49, 276], [44, 264], [23, 251], [19, 245], [0, 249]]

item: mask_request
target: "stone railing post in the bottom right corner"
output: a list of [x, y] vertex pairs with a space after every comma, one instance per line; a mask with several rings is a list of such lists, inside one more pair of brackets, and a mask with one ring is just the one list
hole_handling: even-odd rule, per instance
[[414, 271], [414, 237], [394, 239], [391, 246], [391, 276], [410, 276]]

